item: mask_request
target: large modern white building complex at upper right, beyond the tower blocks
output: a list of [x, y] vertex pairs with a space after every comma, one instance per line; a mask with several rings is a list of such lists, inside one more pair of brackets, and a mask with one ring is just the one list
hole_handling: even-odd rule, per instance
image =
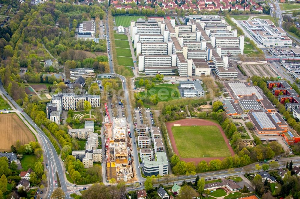
[[286, 36], [286, 31], [276, 27], [269, 19], [255, 18], [241, 21], [241, 25], [256, 42], [265, 47], [292, 46], [292, 40]]

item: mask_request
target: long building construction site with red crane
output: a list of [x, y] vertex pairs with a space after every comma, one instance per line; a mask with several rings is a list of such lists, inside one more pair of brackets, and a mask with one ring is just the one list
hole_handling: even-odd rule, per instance
[[[105, 103], [106, 116], [104, 133], [106, 140], [106, 166], [107, 180], [115, 178], [117, 181], [125, 182], [133, 178], [131, 144], [127, 139], [128, 123], [125, 117], [112, 118], [108, 113]], [[130, 132], [129, 132], [130, 133]]]

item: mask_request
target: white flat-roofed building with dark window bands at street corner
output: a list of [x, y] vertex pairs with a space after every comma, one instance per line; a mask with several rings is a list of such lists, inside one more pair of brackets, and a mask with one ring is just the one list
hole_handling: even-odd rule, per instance
[[169, 174], [168, 159], [165, 152], [157, 152], [155, 160], [151, 160], [149, 156], [143, 156], [143, 171], [146, 176], [167, 175]]

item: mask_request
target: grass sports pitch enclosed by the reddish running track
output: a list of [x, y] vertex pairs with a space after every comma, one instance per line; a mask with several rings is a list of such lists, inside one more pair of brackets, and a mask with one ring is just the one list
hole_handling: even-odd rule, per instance
[[216, 126], [172, 126], [172, 133], [181, 157], [230, 156], [224, 138]]

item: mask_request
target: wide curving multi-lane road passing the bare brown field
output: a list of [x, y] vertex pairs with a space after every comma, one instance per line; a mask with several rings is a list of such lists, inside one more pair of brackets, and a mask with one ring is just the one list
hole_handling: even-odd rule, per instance
[[[2, 84], [2, 82], [1, 82]], [[36, 124], [34, 123], [34, 121], [32, 121], [32, 119], [25, 113], [22, 112], [22, 108], [19, 107], [19, 105], [12, 99], [12, 97], [10, 97], [9, 95], [6, 95], [6, 91], [3, 88], [3, 86], [0, 86], [0, 91], [1, 93], [3, 93], [3, 95], [5, 95], [7, 97], [7, 99], [10, 101], [10, 103], [16, 107], [16, 111], [19, 111], [20, 114], [22, 114], [22, 116], [29, 122], [30, 125], [32, 125], [32, 127], [38, 132], [39, 137], [42, 140], [41, 146], [44, 149], [44, 161], [48, 162], [48, 178], [47, 180], [49, 181], [49, 192], [48, 195], [45, 198], [50, 198], [52, 195], [53, 190], [56, 188], [55, 185], [55, 180], [58, 180], [56, 177], [56, 172], [58, 172], [58, 177], [60, 180], [60, 184], [61, 184], [61, 189], [64, 192], [67, 192], [67, 184], [64, 178], [64, 169], [60, 163], [59, 157], [52, 145], [52, 143], [50, 142], [49, 138], [44, 134], [44, 132], [38, 127], [36, 126]], [[44, 165], [44, 167], [46, 168], [46, 165]], [[44, 198], [44, 196], [43, 196]], [[66, 195], [66, 198], [70, 198], [69, 195]]]

